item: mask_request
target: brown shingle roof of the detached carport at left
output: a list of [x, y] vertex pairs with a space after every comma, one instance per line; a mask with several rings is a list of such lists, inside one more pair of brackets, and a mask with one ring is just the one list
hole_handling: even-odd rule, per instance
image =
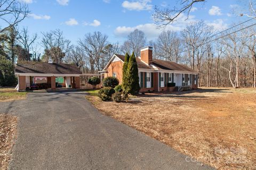
[[82, 74], [75, 64], [57, 64], [21, 61], [15, 67], [15, 73], [42, 74]]

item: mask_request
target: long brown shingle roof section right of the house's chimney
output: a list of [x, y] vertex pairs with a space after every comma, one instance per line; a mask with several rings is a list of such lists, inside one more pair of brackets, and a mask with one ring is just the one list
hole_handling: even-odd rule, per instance
[[175, 63], [175, 62], [169, 62], [169, 61], [154, 59], [152, 64], [154, 66], [158, 67], [158, 69], [163, 69], [163, 70], [177, 70], [177, 71], [195, 72], [193, 69], [190, 69], [187, 65], [178, 64], [178, 63]]

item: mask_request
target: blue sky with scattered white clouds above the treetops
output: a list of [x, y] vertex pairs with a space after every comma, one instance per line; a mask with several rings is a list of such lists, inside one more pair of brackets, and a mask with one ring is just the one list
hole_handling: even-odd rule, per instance
[[[148, 40], [155, 39], [161, 30], [153, 23], [152, 14], [155, 5], [170, 7], [177, 1], [156, 0], [22, 0], [28, 3], [31, 14], [19, 28], [28, 27], [30, 33], [60, 29], [73, 44], [85, 33], [101, 31], [106, 33], [111, 43], [123, 43], [127, 34], [138, 28], [146, 33]], [[204, 20], [215, 30], [229, 27], [229, 24], [245, 20], [237, 17], [232, 8], [243, 5], [236, 0], [206, 1], [194, 6], [189, 19], [181, 16], [167, 30], [180, 31], [186, 24], [195, 20]], [[241, 19], [242, 18], [242, 19]]]

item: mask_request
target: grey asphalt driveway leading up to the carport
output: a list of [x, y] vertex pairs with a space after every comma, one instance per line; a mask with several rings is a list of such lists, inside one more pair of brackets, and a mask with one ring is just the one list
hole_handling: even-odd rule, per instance
[[9, 168], [213, 169], [102, 115], [85, 95], [31, 93], [0, 103], [0, 113], [19, 117]]

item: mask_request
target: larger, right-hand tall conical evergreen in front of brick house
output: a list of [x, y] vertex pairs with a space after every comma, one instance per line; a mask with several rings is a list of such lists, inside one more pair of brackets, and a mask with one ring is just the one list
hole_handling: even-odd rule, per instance
[[130, 94], [135, 94], [135, 92], [139, 92], [140, 85], [139, 85], [139, 75], [138, 75], [138, 64], [137, 64], [134, 52], [129, 58], [126, 77], [127, 77], [126, 91], [129, 92]]

